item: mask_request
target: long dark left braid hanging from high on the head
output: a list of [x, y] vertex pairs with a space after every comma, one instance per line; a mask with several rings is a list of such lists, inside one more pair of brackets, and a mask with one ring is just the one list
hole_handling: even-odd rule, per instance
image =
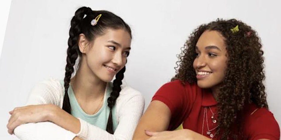
[[68, 97], [68, 88], [70, 83], [71, 74], [74, 71], [74, 64], [78, 57], [81, 54], [78, 48], [78, 38], [81, 33], [80, 23], [86, 13], [91, 12], [91, 8], [89, 7], [81, 7], [76, 12], [74, 17], [71, 19], [71, 27], [69, 30], [69, 38], [68, 38], [68, 49], [67, 49], [67, 57], [66, 57], [66, 66], [65, 66], [65, 78], [64, 78], [64, 87], [65, 87], [65, 95], [63, 98], [62, 109], [68, 113], [71, 113], [71, 107]]

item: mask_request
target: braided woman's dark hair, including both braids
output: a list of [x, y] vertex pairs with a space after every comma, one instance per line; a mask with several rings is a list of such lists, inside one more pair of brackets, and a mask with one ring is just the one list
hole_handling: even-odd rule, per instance
[[[94, 26], [91, 25], [91, 21], [102, 14], [98, 23]], [[86, 16], [85, 16], [86, 15]], [[84, 17], [85, 16], [85, 17]], [[71, 74], [74, 72], [75, 61], [78, 56], [81, 57], [82, 53], [78, 47], [79, 35], [83, 33], [88, 41], [93, 41], [97, 36], [104, 35], [107, 29], [125, 29], [132, 38], [131, 29], [122, 18], [105, 10], [93, 11], [89, 7], [81, 7], [71, 19], [71, 27], [69, 30], [68, 49], [65, 66], [65, 78], [64, 87], [65, 95], [63, 98], [62, 109], [71, 114], [71, 106], [68, 97], [68, 88], [71, 79]], [[125, 67], [116, 74], [116, 79], [113, 81], [113, 88], [108, 98], [108, 106], [110, 108], [110, 114], [107, 122], [106, 131], [113, 134], [112, 123], [112, 108], [115, 105], [116, 99], [121, 91], [120, 85], [124, 77]]]

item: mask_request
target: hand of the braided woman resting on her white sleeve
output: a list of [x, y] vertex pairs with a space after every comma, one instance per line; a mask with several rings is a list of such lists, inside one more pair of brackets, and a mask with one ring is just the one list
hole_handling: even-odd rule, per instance
[[28, 105], [14, 108], [10, 113], [10, 119], [7, 124], [8, 133], [13, 134], [14, 129], [22, 124], [29, 122], [48, 121], [48, 115], [51, 108], [55, 105]]

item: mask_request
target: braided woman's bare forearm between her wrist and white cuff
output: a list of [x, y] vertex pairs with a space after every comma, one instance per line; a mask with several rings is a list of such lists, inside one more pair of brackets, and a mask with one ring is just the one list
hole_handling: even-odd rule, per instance
[[55, 123], [56, 125], [69, 130], [75, 134], [80, 131], [80, 121], [71, 114], [62, 110], [61, 108], [51, 105], [51, 110], [48, 115], [48, 121]]

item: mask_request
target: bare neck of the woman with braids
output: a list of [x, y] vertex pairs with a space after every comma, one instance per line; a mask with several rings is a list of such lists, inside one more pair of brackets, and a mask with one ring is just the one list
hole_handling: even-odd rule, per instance
[[103, 97], [106, 82], [100, 80], [91, 69], [88, 68], [88, 65], [82, 62], [83, 61], [81, 61], [80, 68], [76, 75], [71, 79], [71, 86], [75, 96], [86, 100]]

